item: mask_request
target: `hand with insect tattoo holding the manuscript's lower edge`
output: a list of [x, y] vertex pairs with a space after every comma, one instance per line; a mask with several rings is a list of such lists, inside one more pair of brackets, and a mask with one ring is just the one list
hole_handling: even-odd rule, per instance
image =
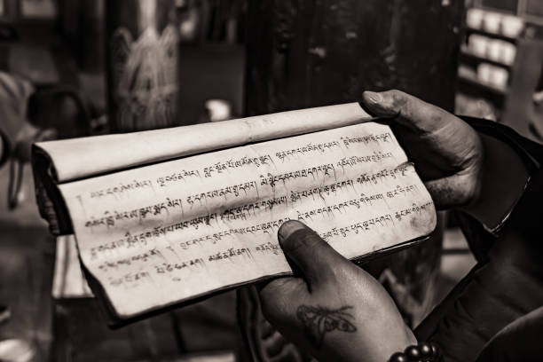
[[264, 316], [322, 361], [386, 361], [416, 343], [382, 285], [298, 221], [279, 242], [300, 272], [260, 291]]

